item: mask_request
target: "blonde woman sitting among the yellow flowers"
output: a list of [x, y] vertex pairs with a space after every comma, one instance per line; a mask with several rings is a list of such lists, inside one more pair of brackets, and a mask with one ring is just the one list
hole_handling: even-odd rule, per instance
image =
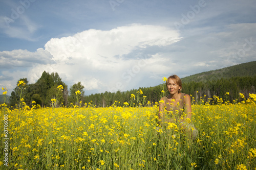
[[176, 125], [180, 124], [191, 137], [195, 138], [198, 132], [195, 126], [190, 123], [190, 96], [181, 93], [182, 83], [180, 78], [177, 75], [168, 77], [166, 87], [169, 94], [164, 96], [159, 102], [158, 116], [160, 123], [169, 122], [175, 123]]

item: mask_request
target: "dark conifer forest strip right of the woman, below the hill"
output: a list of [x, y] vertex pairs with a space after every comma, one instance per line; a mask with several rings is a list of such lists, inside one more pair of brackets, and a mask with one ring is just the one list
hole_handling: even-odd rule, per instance
[[[206, 102], [213, 98], [214, 95], [223, 100], [232, 103], [233, 100], [239, 98], [239, 94], [243, 93], [245, 98], [249, 98], [249, 93], [255, 94], [256, 76], [254, 77], [232, 77], [229, 79], [219, 79], [206, 82], [189, 82], [183, 83], [183, 92], [191, 94], [195, 98], [195, 102], [199, 102], [200, 98]], [[227, 94], [228, 92], [228, 94]]]

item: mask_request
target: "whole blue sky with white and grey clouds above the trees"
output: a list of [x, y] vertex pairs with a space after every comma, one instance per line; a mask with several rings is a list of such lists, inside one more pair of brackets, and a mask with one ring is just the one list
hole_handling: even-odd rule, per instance
[[84, 94], [256, 60], [255, 0], [0, 0], [0, 87], [57, 72]]

